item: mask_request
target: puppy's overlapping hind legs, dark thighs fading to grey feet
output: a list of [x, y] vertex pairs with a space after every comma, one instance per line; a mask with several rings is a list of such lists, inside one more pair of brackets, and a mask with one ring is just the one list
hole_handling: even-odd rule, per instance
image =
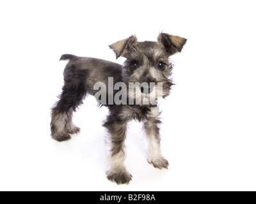
[[60, 100], [52, 108], [51, 135], [59, 142], [70, 140], [69, 134], [79, 133], [80, 129], [72, 123], [73, 112], [83, 103], [86, 89], [83, 78], [79, 78], [75, 68], [67, 67], [64, 71], [65, 84]]

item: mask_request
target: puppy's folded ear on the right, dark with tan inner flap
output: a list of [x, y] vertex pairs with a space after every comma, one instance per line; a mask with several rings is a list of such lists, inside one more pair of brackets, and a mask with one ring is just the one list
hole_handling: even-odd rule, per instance
[[164, 45], [166, 52], [170, 55], [174, 55], [177, 52], [181, 52], [183, 46], [186, 44], [187, 39], [180, 36], [172, 36], [171, 34], [160, 33], [157, 41]]

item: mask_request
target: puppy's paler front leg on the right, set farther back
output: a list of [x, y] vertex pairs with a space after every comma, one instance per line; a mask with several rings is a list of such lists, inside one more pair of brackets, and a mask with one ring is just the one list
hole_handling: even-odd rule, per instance
[[148, 163], [152, 164], [155, 168], [168, 168], [168, 161], [164, 159], [161, 154], [160, 148], [160, 135], [159, 135], [159, 108], [151, 107], [151, 112], [148, 114], [148, 119], [144, 122], [144, 130], [147, 134], [148, 141]]

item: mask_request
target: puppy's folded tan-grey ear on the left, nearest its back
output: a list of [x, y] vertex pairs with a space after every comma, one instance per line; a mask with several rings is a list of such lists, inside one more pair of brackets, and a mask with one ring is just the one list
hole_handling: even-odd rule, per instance
[[126, 38], [124, 40], [117, 41], [112, 45], [109, 45], [109, 48], [111, 48], [115, 52], [117, 59], [120, 56], [126, 57], [127, 53], [131, 50], [132, 44], [136, 42], [136, 36], [131, 36], [130, 38]]

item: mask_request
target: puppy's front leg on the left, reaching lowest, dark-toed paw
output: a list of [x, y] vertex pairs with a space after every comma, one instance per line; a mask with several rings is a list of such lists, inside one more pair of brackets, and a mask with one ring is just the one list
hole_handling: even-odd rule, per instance
[[128, 184], [132, 179], [132, 175], [124, 165], [126, 126], [127, 121], [117, 119], [114, 115], [109, 115], [104, 123], [111, 140], [110, 168], [107, 171], [107, 177], [109, 180], [116, 182], [116, 184]]

